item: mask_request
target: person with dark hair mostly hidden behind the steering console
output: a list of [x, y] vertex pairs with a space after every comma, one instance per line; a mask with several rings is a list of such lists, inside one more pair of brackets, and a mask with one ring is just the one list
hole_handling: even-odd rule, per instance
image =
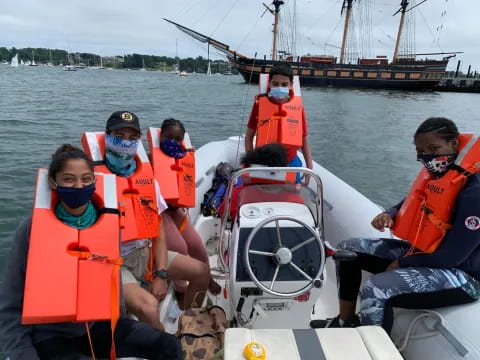
[[[256, 148], [247, 153], [242, 159], [242, 166], [249, 168], [253, 166], [268, 166], [268, 167], [286, 167], [288, 165], [287, 152], [280, 144], [267, 144]], [[298, 194], [297, 186], [295, 184], [282, 184], [278, 188], [268, 186], [269, 181], [261, 180], [266, 186], [250, 187], [248, 185], [255, 184], [255, 179], [244, 176], [241, 180], [242, 184], [236, 186], [232, 191], [230, 199], [230, 218], [236, 219], [238, 209], [241, 205], [252, 202], [297, 202], [303, 203], [303, 198]], [[270, 182], [270, 184], [276, 182]], [[257, 183], [258, 185], [258, 183]], [[248, 188], [248, 189], [247, 189]], [[220, 215], [223, 215], [226, 205], [225, 198], [218, 209]]]

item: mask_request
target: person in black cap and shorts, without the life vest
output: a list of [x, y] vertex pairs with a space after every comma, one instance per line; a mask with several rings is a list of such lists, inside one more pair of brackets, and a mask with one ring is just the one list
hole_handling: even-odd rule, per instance
[[[107, 121], [105, 134], [105, 165], [117, 176], [128, 178], [136, 169], [135, 154], [141, 138], [138, 117], [133, 113], [125, 119], [125, 112], [114, 112]], [[160, 186], [155, 183], [156, 207], [163, 213], [167, 205], [160, 193]], [[161, 215], [159, 215], [161, 216]], [[152, 241], [156, 240], [156, 241]], [[149, 248], [155, 244], [153, 251]], [[159, 301], [167, 292], [167, 280], [188, 281], [183, 301], [179, 301], [182, 309], [189, 308], [197, 293], [205, 291], [209, 284], [210, 269], [205, 263], [192, 257], [167, 251], [167, 243], [160, 224], [160, 235], [157, 239], [137, 239], [122, 242], [122, 283], [127, 311], [136, 315], [141, 321], [162, 328], [159, 314]], [[153, 280], [145, 282], [144, 276], [150, 261], [150, 253], [154, 256]], [[203, 297], [197, 296], [201, 301]]]

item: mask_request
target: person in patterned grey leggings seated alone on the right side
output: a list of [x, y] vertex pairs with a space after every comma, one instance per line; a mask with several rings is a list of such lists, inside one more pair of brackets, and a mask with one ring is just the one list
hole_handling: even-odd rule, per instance
[[[480, 175], [471, 165], [480, 161], [480, 149], [478, 144], [469, 148], [473, 140], [465, 145], [464, 136], [446, 118], [429, 118], [417, 129], [413, 140], [425, 169], [404, 201], [372, 220], [374, 228], [392, 228], [408, 241], [357, 238], [340, 243], [340, 249], [358, 257], [339, 261], [340, 314], [323, 325], [381, 325], [390, 332], [392, 307], [435, 308], [479, 298]], [[375, 275], [360, 293], [358, 318], [362, 270]]]

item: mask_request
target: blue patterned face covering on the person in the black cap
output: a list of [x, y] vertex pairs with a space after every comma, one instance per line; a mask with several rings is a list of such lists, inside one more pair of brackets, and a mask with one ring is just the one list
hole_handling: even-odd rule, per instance
[[105, 164], [116, 175], [130, 176], [137, 168], [138, 140], [123, 140], [105, 134]]

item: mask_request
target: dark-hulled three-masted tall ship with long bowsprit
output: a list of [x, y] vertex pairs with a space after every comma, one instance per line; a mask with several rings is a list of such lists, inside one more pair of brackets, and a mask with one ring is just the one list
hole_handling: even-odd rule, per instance
[[[355, 39], [351, 34], [355, 1], [343, 0], [341, 15], [344, 17], [344, 23], [339, 57], [310, 54], [294, 56], [288, 51], [279, 49], [279, 19], [282, 6], [285, 4], [282, 0], [274, 0], [270, 6], [264, 4], [265, 11], [271, 13], [274, 18], [271, 57], [268, 59], [267, 56], [259, 59], [256, 56], [243, 55], [210, 36], [174, 21], [164, 20], [192, 38], [208, 44], [208, 49], [213, 46], [224, 53], [246, 82], [258, 83], [260, 74], [268, 73], [274, 65], [288, 63], [294, 74], [299, 75], [303, 86], [423, 90], [432, 89], [438, 85], [445, 74], [449, 58], [455, 56], [455, 52], [415, 54], [414, 46], [411, 45], [411, 36], [404, 34], [408, 13], [427, 0], [418, 4], [415, 4], [414, 0], [401, 0], [400, 8], [394, 14], [400, 15], [400, 20], [391, 61], [387, 56], [358, 56], [359, 52], [352, 50], [355, 47]], [[358, 2], [361, 1], [358, 0]], [[419, 59], [419, 56], [441, 56], [441, 59], [426, 57]]]

